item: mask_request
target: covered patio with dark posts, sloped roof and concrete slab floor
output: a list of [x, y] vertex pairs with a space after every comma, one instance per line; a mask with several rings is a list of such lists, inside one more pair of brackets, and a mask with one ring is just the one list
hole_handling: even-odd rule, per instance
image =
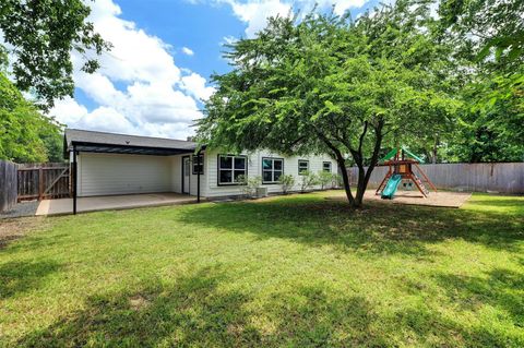
[[[157, 205], [166, 202], [176, 203], [184, 201], [187, 199], [194, 200], [186, 194], [177, 194], [165, 185], [147, 185], [145, 181], [151, 181], [152, 176], [158, 176], [164, 178], [166, 176], [169, 176], [168, 172], [165, 172], [165, 168], [153, 168], [151, 166], [151, 160], [143, 160], [143, 163], [139, 163], [135, 168], [130, 167], [130, 165], [128, 164], [127, 166], [123, 166], [121, 168], [120, 172], [118, 172], [119, 167], [117, 164], [118, 160], [122, 158], [144, 158], [144, 156], [152, 156], [151, 158], [155, 158], [157, 159], [156, 161], [159, 163], [163, 157], [167, 158], [168, 156], [175, 155], [193, 155], [198, 149], [198, 144], [194, 142], [67, 129], [64, 134], [63, 148], [64, 157], [68, 157], [71, 164], [72, 199], [55, 200], [55, 202], [47, 202], [45, 204], [48, 204], [48, 207], [46, 208], [45, 204], [41, 205], [41, 209], [39, 207], [40, 212], [44, 212], [46, 209], [53, 211], [51, 208], [52, 206], [56, 207], [55, 211], [62, 212], [64, 211], [63, 207], [70, 204], [70, 212], [72, 214], [76, 214], [76, 212], [79, 212], [79, 201], [82, 201], [82, 206], [80, 211], [93, 211], [92, 208], [90, 208], [90, 206], [96, 204], [99, 204], [99, 206], [107, 206], [107, 208], [118, 208], [118, 205], [120, 205], [121, 207], [135, 207]], [[104, 172], [107, 175], [108, 170], [91, 170], [88, 173], [88, 179], [98, 183], [100, 181], [104, 182], [104, 184], [102, 185], [102, 191], [100, 189], [98, 189], [98, 191], [96, 192], [81, 192], [81, 196], [79, 196], [79, 158], [81, 158], [83, 154], [105, 154], [108, 156], [110, 155], [110, 160], [107, 161], [106, 158], [106, 164], [110, 164], [111, 168], [114, 168], [109, 169], [109, 172], [110, 170], [115, 170], [117, 172], [111, 172], [112, 181], [109, 181], [105, 180], [106, 178], [104, 178]], [[115, 159], [115, 164], [111, 164], [111, 158]], [[201, 160], [200, 149], [196, 153], [195, 158], [196, 160]], [[154, 163], [155, 161], [153, 161], [153, 164]], [[129, 171], [132, 171], [133, 169], [141, 171], [145, 170], [145, 172], [141, 172], [140, 176], [133, 177], [131, 180], [128, 178], [128, 176]], [[121, 179], [115, 181], [116, 178], [119, 179], [119, 176], [121, 177]], [[83, 178], [83, 180], [85, 179], [86, 178]], [[126, 180], [129, 180], [130, 182], [126, 183]], [[141, 184], [140, 180], [144, 180], [144, 185]], [[201, 180], [199, 171], [196, 177], [196, 202], [201, 201], [200, 181]], [[115, 188], [108, 185], [110, 184], [110, 182], [114, 182]], [[148, 192], [147, 190], [150, 190], [151, 192]], [[106, 200], [100, 201], [102, 197], [106, 197]], [[182, 197], [184, 200], [181, 200]], [[133, 203], [133, 200], [135, 201], [135, 203]], [[140, 205], [141, 203], [142, 205]]]

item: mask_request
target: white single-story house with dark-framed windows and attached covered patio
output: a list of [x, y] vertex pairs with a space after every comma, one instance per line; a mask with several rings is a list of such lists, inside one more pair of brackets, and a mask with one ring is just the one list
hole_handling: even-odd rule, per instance
[[[269, 193], [282, 192], [279, 177], [330, 171], [327, 155], [286, 157], [269, 151], [238, 155], [206, 151], [196, 154], [190, 141], [67, 129], [64, 152], [74, 164], [73, 196], [176, 192], [199, 197], [239, 195], [238, 177], [260, 176]], [[200, 156], [200, 161], [198, 160]]]

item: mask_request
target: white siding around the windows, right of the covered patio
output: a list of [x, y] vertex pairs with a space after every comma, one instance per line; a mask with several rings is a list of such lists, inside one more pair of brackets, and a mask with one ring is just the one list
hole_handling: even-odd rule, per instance
[[[240, 185], [218, 185], [218, 154], [219, 152], [212, 152], [205, 156], [205, 173], [207, 173], [207, 184], [205, 194], [203, 196], [227, 196], [227, 195], [239, 195], [242, 193]], [[275, 153], [267, 151], [258, 151], [254, 153], [242, 153], [242, 155], [248, 156], [248, 177], [262, 176], [262, 157], [277, 157], [284, 158], [284, 175], [293, 175], [295, 177], [295, 185], [291, 191], [300, 190], [300, 176], [298, 175], [298, 159], [309, 160], [309, 170], [318, 173], [322, 171], [322, 164], [324, 161], [331, 161], [331, 170], [333, 173], [337, 172], [337, 165], [334, 159], [327, 155], [312, 155], [312, 156], [293, 156], [285, 157]], [[203, 181], [202, 181], [203, 182]], [[267, 188], [270, 193], [282, 192], [282, 185], [278, 183], [275, 184], [262, 184], [262, 187]], [[313, 189], [320, 189], [314, 187]]]

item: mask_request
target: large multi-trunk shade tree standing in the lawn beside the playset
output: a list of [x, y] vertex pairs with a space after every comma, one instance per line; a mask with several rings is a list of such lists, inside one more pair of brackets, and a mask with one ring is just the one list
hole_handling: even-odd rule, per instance
[[[381, 149], [434, 134], [451, 121], [448, 48], [432, 35], [426, 3], [401, 0], [358, 21], [334, 14], [273, 17], [253, 39], [229, 46], [233, 71], [214, 75], [199, 137], [234, 152], [329, 153], [358, 166], [360, 206]], [[366, 168], [366, 165], [369, 165]]]

